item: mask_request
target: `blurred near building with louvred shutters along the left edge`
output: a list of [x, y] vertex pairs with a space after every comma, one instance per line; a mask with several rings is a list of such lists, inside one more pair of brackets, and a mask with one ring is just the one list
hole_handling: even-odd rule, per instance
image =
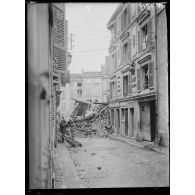
[[65, 5], [28, 4], [27, 18], [27, 186], [30, 189], [54, 188], [56, 115], [60, 87], [65, 85], [68, 77]]

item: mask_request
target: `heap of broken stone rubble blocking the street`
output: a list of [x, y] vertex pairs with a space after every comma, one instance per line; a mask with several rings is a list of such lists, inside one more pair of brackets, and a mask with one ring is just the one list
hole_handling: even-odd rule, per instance
[[107, 137], [112, 133], [108, 105], [99, 105], [93, 110], [88, 110], [82, 117], [73, 117], [72, 119], [68, 122], [62, 119], [56, 132], [57, 140], [65, 143], [67, 148], [82, 146], [75, 140], [76, 137]]

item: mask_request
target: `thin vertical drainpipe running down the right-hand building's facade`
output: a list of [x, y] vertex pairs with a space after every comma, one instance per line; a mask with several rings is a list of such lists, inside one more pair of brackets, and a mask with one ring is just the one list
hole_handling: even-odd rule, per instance
[[158, 138], [159, 137], [159, 129], [158, 129], [158, 113], [159, 113], [159, 110], [158, 110], [158, 65], [157, 65], [157, 11], [156, 11], [156, 3], [154, 3], [154, 32], [155, 32], [155, 70], [156, 70], [156, 101], [155, 101], [155, 112], [156, 112], [156, 125], [155, 125], [155, 128], [156, 128], [156, 132], [155, 132], [155, 138]]

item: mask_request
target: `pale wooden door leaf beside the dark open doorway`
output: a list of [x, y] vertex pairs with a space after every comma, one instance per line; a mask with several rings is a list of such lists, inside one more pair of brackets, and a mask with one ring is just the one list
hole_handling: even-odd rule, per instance
[[141, 132], [144, 140], [151, 141], [150, 104], [141, 104]]

